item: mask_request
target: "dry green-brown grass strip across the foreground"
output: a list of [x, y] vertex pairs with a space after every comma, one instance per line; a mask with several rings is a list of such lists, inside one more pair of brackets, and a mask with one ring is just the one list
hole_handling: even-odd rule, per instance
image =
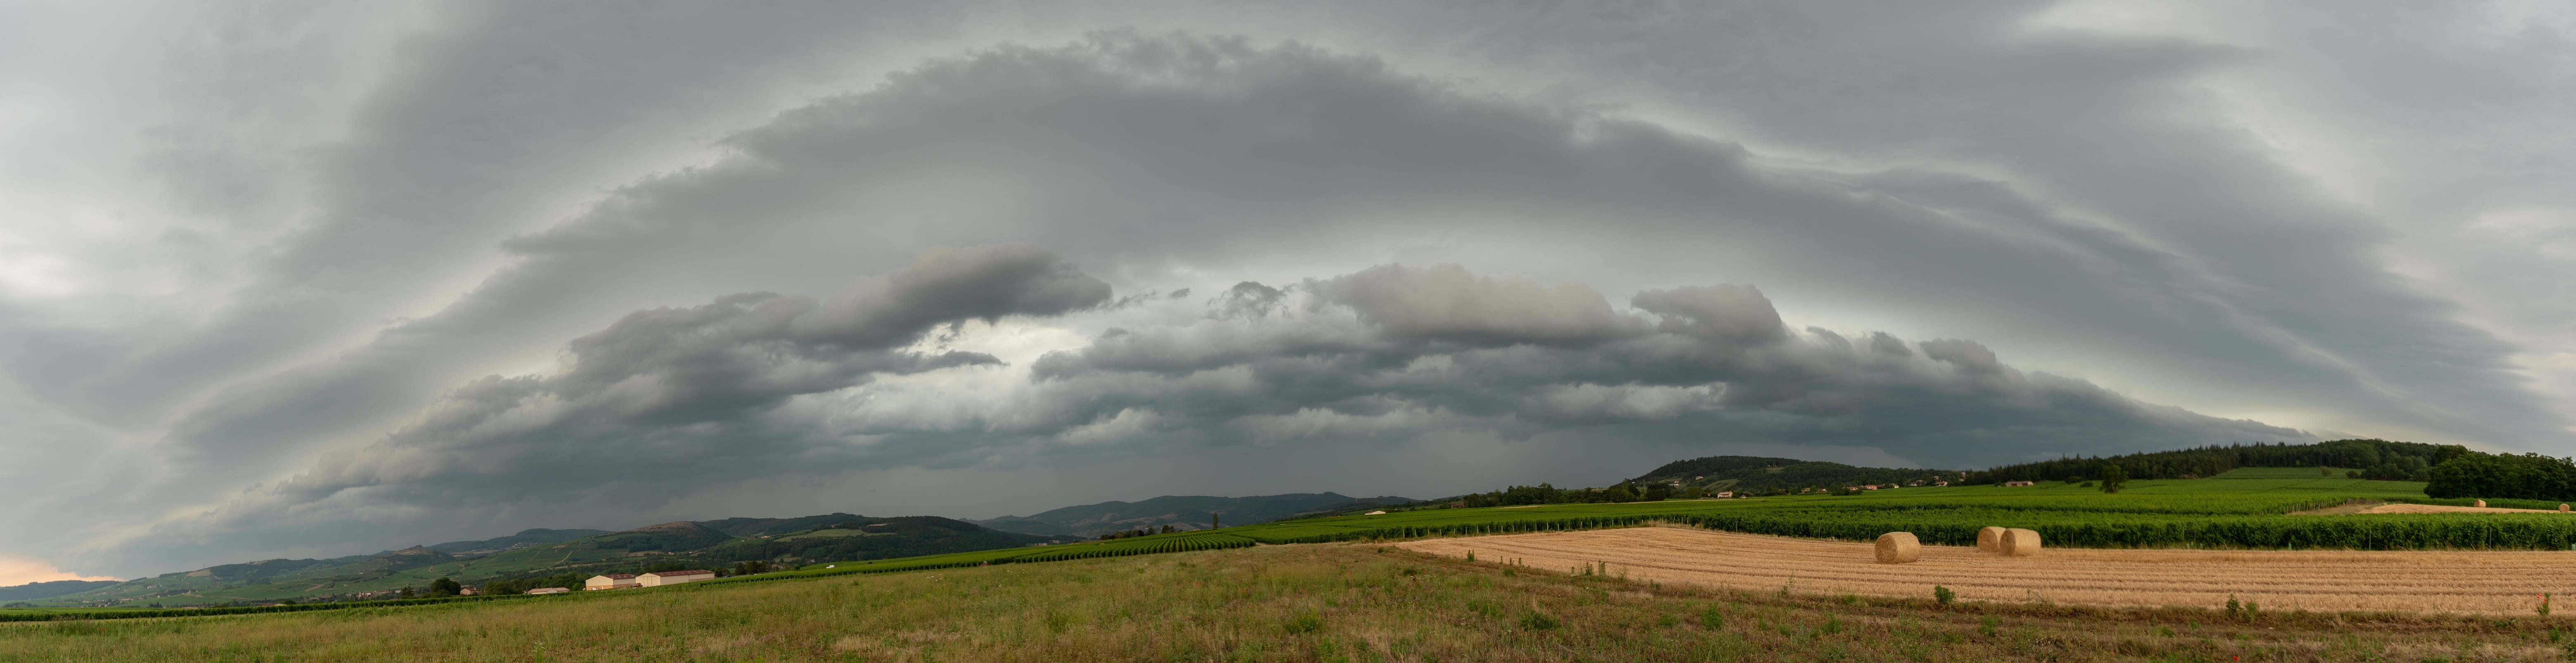
[[[1700, 591], [1301, 544], [0, 624], [0, 660], [2561, 660], [2563, 622]], [[2568, 637], [2576, 640], [2576, 637]]]

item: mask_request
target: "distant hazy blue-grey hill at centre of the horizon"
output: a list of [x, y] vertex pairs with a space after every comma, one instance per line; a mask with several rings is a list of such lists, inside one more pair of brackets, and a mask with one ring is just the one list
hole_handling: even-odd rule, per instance
[[1208, 516], [1224, 516], [1226, 526], [1239, 524], [1267, 524], [1301, 513], [1342, 511], [1352, 506], [1376, 503], [1409, 503], [1406, 498], [1352, 498], [1342, 493], [1288, 493], [1288, 495], [1252, 495], [1252, 498], [1213, 498], [1213, 495], [1162, 495], [1151, 500], [1108, 500], [1066, 506], [1054, 511], [1041, 511], [1036, 516], [1002, 516], [989, 521], [969, 521], [999, 531], [1020, 534], [1059, 534], [1059, 537], [1100, 537], [1110, 531], [1128, 529], [1159, 529], [1172, 526], [1182, 531], [1208, 529]]

